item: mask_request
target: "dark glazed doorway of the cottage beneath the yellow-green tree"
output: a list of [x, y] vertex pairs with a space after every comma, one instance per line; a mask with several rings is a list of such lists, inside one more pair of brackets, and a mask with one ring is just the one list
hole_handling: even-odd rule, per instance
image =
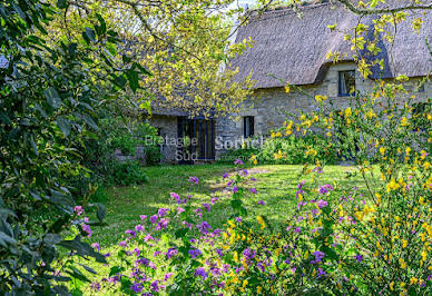
[[215, 160], [215, 121], [213, 119], [178, 118], [177, 151], [179, 164]]

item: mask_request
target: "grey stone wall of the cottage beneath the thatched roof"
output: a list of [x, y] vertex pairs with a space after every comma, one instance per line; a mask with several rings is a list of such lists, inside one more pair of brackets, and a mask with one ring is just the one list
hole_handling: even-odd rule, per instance
[[[344, 62], [332, 65], [323, 80], [318, 85], [302, 86], [302, 92], [292, 89], [286, 93], [284, 88], [257, 89], [253, 97], [245, 102], [240, 115], [236, 115], [234, 119], [219, 119], [216, 124], [217, 136], [223, 141], [235, 141], [243, 137], [243, 120], [244, 116], [254, 117], [255, 135], [266, 135], [273, 128], [282, 127], [287, 118], [287, 112], [298, 114], [298, 110], [311, 112], [317, 110], [318, 105], [315, 102], [316, 95], [323, 95], [332, 98], [336, 109], [345, 109], [350, 106], [352, 97], [337, 97], [338, 95], [338, 71], [356, 70], [355, 86], [356, 90], [367, 92], [373, 90], [375, 85], [370, 79], [364, 79], [356, 69], [353, 62]], [[432, 85], [428, 82], [424, 86], [423, 92], [416, 92], [420, 78], [410, 79], [405, 83], [405, 89], [410, 91], [406, 96], [415, 96], [416, 101], [425, 100], [432, 97]], [[307, 95], [304, 95], [307, 93]], [[217, 150], [216, 157], [220, 157], [225, 152], [224, 149]]]

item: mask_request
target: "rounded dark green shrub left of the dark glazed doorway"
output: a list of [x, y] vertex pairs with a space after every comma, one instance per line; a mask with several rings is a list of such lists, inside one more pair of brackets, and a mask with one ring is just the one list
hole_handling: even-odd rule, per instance
[[[160, 162], [156, 128], [139, 119], [109, 114], [99, 120], [99, 126], [97, 138], [88, 139], [84, 155], [84, 162], [94, 175], [82, 181], [106, 185], [144, 182], [147, 177], [143, 166]], [[141, 152], [137, 154], [138, 149], [143, 149]], [[118, 151], [120, 156], [116, 156]]]

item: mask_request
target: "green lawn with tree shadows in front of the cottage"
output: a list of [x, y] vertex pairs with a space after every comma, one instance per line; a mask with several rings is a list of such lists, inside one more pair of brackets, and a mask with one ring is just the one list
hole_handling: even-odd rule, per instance
[[[139, 215], [154, 215], [158, 208], [173, 204], [169, 193], [181, 196], [193, 195], [193, 203], [202, 205], [209, 203], [212, 197], [219, 197], [220, 203], [213, 207], [212, 213], [205, 214], [208, 223], [220, 227], [220, 221], [230, 214], [228, 193], [224, 191], [226, 181], [222, 180], [225, 171], [234, 171], [233, 166], [200, 165], [200, 166], [161, 166], [145, 169], [149, 182], [141, 186], [104, 189], [107, 199], [108, 226], [95, 228], [91, 241], [101, 246], [110, 246], [119, 241], [124, 231], [139, 223]], [[360, 186], [359, 177], [346, 179], [352, 167], [330, 166], [322, 174], [322, 181], [333, 184], [342, 182], [346, 186]], [[257, 179], [251, 182], [257, 195], [249, 195], [245, 201], [254, 215], [266, 215], [273, 223], [283, 223], [296, 205], [295, 191], [300, 180], [303, 179], [301, 166], [256, 166], [251, 168], [251, 174]], [[199, 186], [187, 181], [189, 176], [200, 179]], [[257, 206], [258, 200], [264, 200], [266, 206]], [[253, 215], [251, 215], [253, 216]]]

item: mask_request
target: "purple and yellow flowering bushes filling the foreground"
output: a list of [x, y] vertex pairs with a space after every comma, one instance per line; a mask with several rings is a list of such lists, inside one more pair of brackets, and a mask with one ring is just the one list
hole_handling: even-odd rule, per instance
[[[389, 102], [382, 109], [376, 95], [364, 96], [336, 116], [318, 97], [318, 114], [302, 115], [296, 126], [284, 127], [287, 134], [294, 128], [305, 135], [321, 128], [330, 139], [341, 139], [336, 148], [352, 155], [357, 167], [346, 177], [363, 178], [356, 187], [322, 184], [325, 161], [320, 157], [325, 156], [308, 148], [303, 167], [308, 181], [300, 180], [294, 215], [281, 227], [245, 208], [244, 200], [257, 193], [256, 180], [237, 160], [235, 174], [223, 177], [230, 193], [223, 229], [207, 223], [218, 199], [208, 197], [194, 207], [192, 196], [170, 193], [173, 205], [127, 230], [120, 250], [108, 258], [106, 280], [94, 277], [87, 288], [125, 294], [430, 295], [432, 135], [430, 129], [413, 131], [419, 115], [412, 116], [410, 100], [396, 97], [400, 86], [382, 86], [380, 93]], [[422, 117], [432, 121], [429, 111]], [[377, 165], [371, 166], [371, 159]]]

